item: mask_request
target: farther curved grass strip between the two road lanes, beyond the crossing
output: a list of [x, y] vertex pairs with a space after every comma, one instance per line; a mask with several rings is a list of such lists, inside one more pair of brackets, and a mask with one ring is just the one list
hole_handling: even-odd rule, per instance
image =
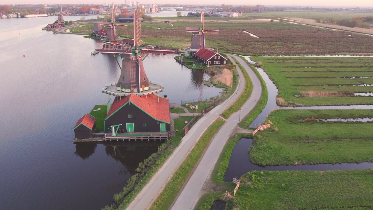
[[[253, 91], [253, 84], [251, 83], [250, 77], [247, 74], [246, 70], [244, 67], [242, 67], [239, 62], [233, 58], [233, 60], [236, 62], [237, 66], [241, 69], [242, 74], [244, 75], [245, 81], [245, 89], [244, 91], [239, 95], [238, 99], [230, 106], [228, 109], [226, 109], [222, 114], [220, 114], [224, 118], [229, 118], [234, 112], [238, 111], [242, 105], [247, 101], [247, 99], [250, 97], [251, 92]], [[234, 81], [233, 81], [234, 83]], [[234, 89], [235, 90], [235, 89]], [[233, 90], [233, 92], [234, 92]]]

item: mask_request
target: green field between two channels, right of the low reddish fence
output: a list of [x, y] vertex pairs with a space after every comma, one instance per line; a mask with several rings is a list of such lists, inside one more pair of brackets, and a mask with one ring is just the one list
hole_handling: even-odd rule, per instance
[[305, 119], [373, 117], [372, 110], [290, 110], [272, 112], [270, 129], [254, 136], [250, 160], [260, 165], [373, 161], [373, 123]]

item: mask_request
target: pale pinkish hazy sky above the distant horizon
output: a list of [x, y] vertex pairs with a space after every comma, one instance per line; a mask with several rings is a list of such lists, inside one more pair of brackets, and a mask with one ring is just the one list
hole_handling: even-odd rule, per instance
[[[125, 0], [1, 0], [0, 4], [122, 4]], [[241, 4], [241, 5], [298, 5], [298, 6], [334, 6], [334, 7], [373, 7], [373, 0], [138, 0], [140, 4]]]

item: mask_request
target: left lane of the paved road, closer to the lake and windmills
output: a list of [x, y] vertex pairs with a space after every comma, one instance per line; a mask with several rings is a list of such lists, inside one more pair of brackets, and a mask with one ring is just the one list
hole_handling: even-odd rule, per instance
[[[246, 65], [246, 64], [245, 64]], [[239, 80], [244, 81], [244, 77], [239, 70]], [[254, 74], [255, 75], [255, 74]], [[252, 75], [250, 75], [252, 76]], [[256, 76], [256, 75], [255, 75]], [[180, 145], [175, 149], [172, 155], [168, 158], [166, 163], [159, 169], [159, 171], [153, 176], [150, 182], [142, 189], [142, 191], [135, 197], [132, 203], [127, 207], [128, 210], [143, 210], [149, 209], [151, 204], [157, 198], [160, 192], [162, 192], [166, 183], [171, 179], [173, 173], [178, 169], [186, 155], [190, 152], [196, 141], [201, 137], [203, 132], [209, 127], [214, 119], [221, 114], [226, 108], [231, 106], [240, 93], [244, 90], [244, 83], [238, 84], [237, 90], [229, 97], [225, 102], [216, 106], [214, 109], [205, 114], [200, 120], [195, 123], [188, 134], [184, 136]], [[259, 83], [260, 86], [260, 83]], [[260, 86], [261, 87], [261, 86]], [[259, 94], [260, 95], [260, 94]], [[243, 113], [242, 113], [243, 114]], [[238, 115], [237, 115], [238, 116]], [[238, 119], [238, 118], [237, 118]], [[197, 189], [197, 188], [196, 188]], [[180, 208], [181, 209], [185, 209]]]

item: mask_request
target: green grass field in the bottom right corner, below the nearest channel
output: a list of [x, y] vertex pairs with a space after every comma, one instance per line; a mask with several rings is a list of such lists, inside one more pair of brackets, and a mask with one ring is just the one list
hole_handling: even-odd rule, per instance
[[254, 171], [241, 177], [237, 209], [369, 210], [373, 171]]

